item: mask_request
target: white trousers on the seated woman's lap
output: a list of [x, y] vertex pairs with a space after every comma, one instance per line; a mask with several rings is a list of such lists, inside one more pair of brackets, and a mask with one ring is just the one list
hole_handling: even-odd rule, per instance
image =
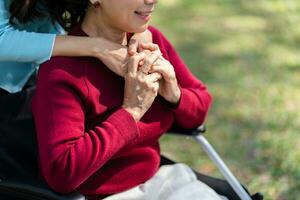
[[144, 184], [104, 200], [226, 200], [203, 182], [185, 164], [164, 165]]

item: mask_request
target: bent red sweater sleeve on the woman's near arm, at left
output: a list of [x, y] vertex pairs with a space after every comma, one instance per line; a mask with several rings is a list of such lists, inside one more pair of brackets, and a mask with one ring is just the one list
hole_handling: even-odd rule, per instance
[[[83, 68], [83, 67], [82, 67]], [[39, 70], [33, 115], [40, 167], [57, 192], [69, 193], [139, 135], [122, 108], [92, 128], [86, 126], [87, 89], [83, 81], [44, 64]]]

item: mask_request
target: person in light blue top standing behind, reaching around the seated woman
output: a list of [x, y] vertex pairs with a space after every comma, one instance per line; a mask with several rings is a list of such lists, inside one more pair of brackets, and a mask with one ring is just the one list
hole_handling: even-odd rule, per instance
[[[114, 70], [128, 50], [135, 51], [138, 41], [151, 41], [149, 31], [135, 34], [128, 49], [103, 37], [64, 35], [48, 4], [44, 0], [0, 1], [0, 179], [37, 171], [28, 164], [36, 161], [29, 107], [39, 64], [52, 56], [90, 56]], [[73, 6], [78, 4], [74, 1]]]

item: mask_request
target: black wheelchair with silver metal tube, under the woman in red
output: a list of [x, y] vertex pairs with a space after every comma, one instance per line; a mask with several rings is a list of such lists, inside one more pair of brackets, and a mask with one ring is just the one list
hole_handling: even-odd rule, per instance
[[[32, 121], [21, 120], [22, 126], [16, 124], [0, 125], [0, 199], [1, 200], [85, 200], [84, 195], [73, 192], [70, 194], [59, 194], [50, 189], [47, 184], [38, 179], [37, 144], [35, 136], [26, 134], [16, 134], [10, 142], [5, 142], [6, 125], [15, 129], [15, 133], [31, 132], [34, 133]], [[9, 122], [14, 123], [14, 122]], [[203, 136], [204, 126], [196, 129], [181, 129], [173, 127], [170, 133], [184, 135], [195, 138], [201, 144], [208, 156], [214, 161], [225, 180], [210, 177], [196, 172], [197, 178], [206, 183], [218, 194], [230, 200], [262, 200], [261, 193], [250, 195], [247, 189], [242, 186], [233, 176], [222, 159], [218, 156], [212, 146]], [[1, 139], [2, 137], [2, 139]], [[2, 140], [2, 141], [1, 141]], [[6, 148], [1, 148], [4, 145]], [[173, 164], [174, 161], [161, 156], [161, 165]]]

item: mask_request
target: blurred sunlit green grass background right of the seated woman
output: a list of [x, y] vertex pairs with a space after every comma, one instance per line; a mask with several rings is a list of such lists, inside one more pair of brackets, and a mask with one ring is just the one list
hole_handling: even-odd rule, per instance
[[[265, 199], [300, 199], [300, 2], [160, 0], [152, 24], [214, 97], [207, 138], [234, 174]], [[209, 175], [191, 139], [162, 152]]]

